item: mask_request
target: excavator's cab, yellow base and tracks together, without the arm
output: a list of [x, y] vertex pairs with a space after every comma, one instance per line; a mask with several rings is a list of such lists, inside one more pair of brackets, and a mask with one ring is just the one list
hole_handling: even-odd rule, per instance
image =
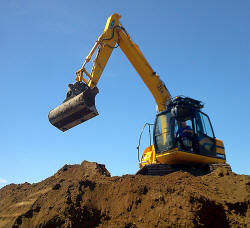
[[[166, 111], [156, 115], [154, 144], [144, 150], [137, 174], [165, 175], [193, 168], [207, 173], [215, 164], [231, 169], [226, 164], [223, 142], [215, 138], [210, 119], [202, 108], [200, 101], [176, 97]], [[189, 135], [178, 134], [183, 122], [191, 129]]]

